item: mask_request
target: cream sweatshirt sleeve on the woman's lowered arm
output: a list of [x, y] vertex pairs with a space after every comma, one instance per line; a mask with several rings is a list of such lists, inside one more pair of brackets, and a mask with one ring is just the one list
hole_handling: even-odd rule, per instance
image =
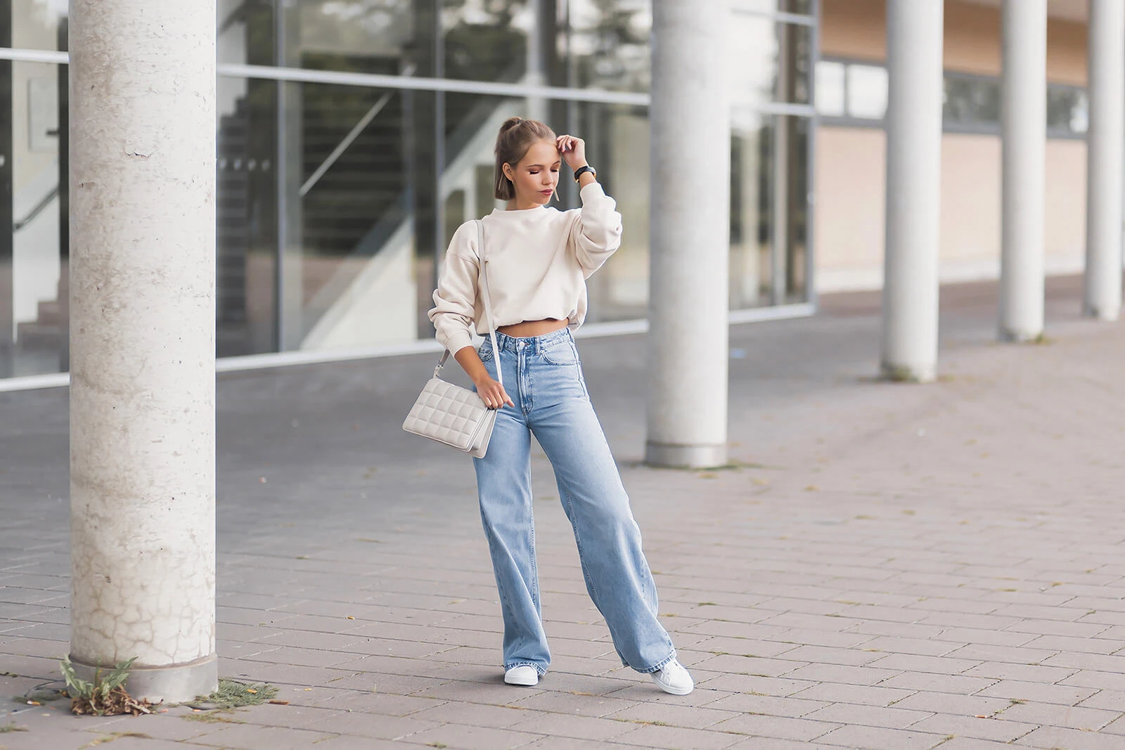
[[477, 299], [477, 232], [475, 222], [466, 222], [453, 234], [446, 251], [446, 263], [433, 292], [430, 322], [438, 342], [456, 354], [472, 345]]

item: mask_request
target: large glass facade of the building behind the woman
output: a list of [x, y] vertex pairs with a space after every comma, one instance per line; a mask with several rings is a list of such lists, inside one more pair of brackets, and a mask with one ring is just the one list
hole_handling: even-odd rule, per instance
[[[66, 4], [0, 0], [0, 377], [68, 368]], [[817, 7], [735, 4], [731, 306], [807, 301]], [[651, 0], [218, 6], [219, 356], [431, 338], [512, 115], [584, 137], [624, 217], [587, 320], [646, 315]]]

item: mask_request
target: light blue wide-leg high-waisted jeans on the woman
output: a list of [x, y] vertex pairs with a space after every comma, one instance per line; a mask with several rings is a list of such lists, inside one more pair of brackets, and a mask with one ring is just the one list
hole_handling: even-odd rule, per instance
[[547, 671], [531, 509], [531, 435], [555, 468], [559, 498], [578, 544], [586, 590], [610, 627], [622, 663], [654, 672], [675, 658], [657, 621], [656, 584], [641, 552], [640, 530], [609, 443], [594, 414], [568, 328], [543, 336], [496, 334], [480, 359], [515, 408], [504, 406], [488, 452], [475, 459], [480, 517], [504, 616], [504, 668]]

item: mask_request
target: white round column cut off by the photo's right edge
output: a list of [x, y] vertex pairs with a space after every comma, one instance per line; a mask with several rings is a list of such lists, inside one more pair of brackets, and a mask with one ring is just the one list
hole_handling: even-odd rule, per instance
[[1090, 129], [1086, 135], [1086, 315], [1122, 307], [1122, 169], [1125, 139], [1125, 2], [1090, 0]]

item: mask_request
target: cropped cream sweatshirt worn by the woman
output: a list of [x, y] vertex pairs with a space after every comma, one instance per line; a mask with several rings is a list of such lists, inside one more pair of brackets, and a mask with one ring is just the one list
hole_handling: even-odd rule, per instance
[[[582, 189], [582, 208], [496, 209], [484, 219], [488, 292], [496, 327], [556, 318], [586, 319], [586, 279], [621, 245], [621, 214], [602, 186]], [[488, 334], [478, 284], [477, 224], [457, 228], [433, 292], [430, 320], [450, 352]]]

